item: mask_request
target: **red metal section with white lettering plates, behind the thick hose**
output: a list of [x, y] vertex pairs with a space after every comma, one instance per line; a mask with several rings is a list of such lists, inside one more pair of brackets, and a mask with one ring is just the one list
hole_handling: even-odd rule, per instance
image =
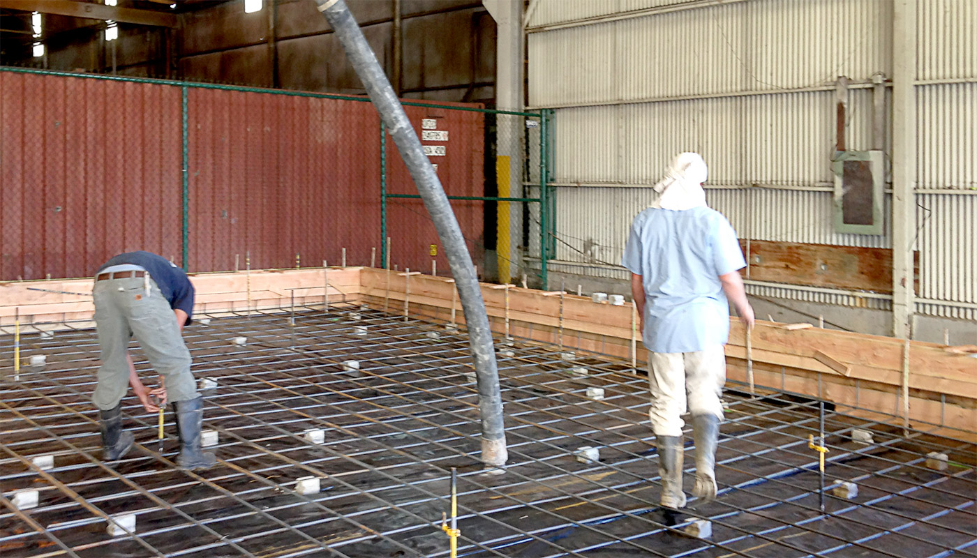
[[[448, 141], [425, 141], [425, 145], [445, 146], [444, 156], [431, 156], [438, 165], [438, 177], [448, 195], [484, 195], [485, 184], [485, 115], [481, 112], [447, 110], [434, 107], [404, 107], [416, 130], [421, 119], [434, 118], [438, 130], [447, 131]], [[389, 193], [416, 194], [404, 161], [388, 141]], [[484, 202], [452, 200], [451, 207], [467, 240], [468, 249], [476, 262], [483, 259], [485, 250]], [[387, 206], [388, 236], [391, 236], [391, 264], [400, 269], [431, 272], [431, 261], [437, 260], [440, 275], [447, 272], [447, 260], [440, 247], [434, 224], [420, 199], [392, 198]], [[430, 255], [431, 244], [438, 245], [438, 254]]]

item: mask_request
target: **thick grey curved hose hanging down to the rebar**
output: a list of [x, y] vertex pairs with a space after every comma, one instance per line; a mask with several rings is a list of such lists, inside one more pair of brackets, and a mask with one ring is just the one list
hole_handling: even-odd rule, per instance
[[376, 56], [366, 43], [345, 0], [316, 0], [316, 4], [343, 45], [370, 101], [389, 128], [394, 144], [404, 159], [404, 166], [410, 172], [417, 192], [430, 213], [441, 244], [445, 247], [447, 262], [465, 312], [472, 358], [475, 361], [482, 421], [482, 461], [489, 467], [502, 466], [508, 460], [508, 450], [502, 420], [498, 369], [482, 288], [475, 276], [465, 238], [461, 235], [445, 190], [431, 166], [431, 161], [424, 154], [404, 107], [398, 101], [383, 68], [377, 63]]

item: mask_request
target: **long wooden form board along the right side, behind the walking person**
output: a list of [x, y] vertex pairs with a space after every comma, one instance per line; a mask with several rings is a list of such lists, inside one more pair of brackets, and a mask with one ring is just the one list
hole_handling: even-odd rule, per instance
[[[411, 276], [409, 313], [413, 317], [449, 321], [453, 282], [430, 276]], [[560, 343], [560, 296], [510, 287], [509, 330], [513, 336]], [[404, 310], [404, 277], [384, 270], [361, 273], [363, 301], [374, 308], [384, 303], [392, 312]], [[484, 284], [492, 330], [501, 333], [505, 319], [505, 289]], [[456, 299], [455, 299], [456, 300]], [[459, 302], [456, 322], [464, 323]], [[631, 357], [631, 306], [597, 304], [587, 297], [563, 296], [562, 343], [568, 350], [600, 353], [622, 360]], [[640, 336], [640, 332], [637, 333]], [[786, 328], [777, 322], [757, 322], [750, 334], [756, 385], [766, 385], [811, 397], [823, 396], [839, 408], [902, 415], [903, 350], [900, 339], [822, 329]], [[646, 351], [638, 339], [638, 363]], [[726, 346], [729, 378], [745, 381], [745, 335], [739, 321], [731, 323]], [[741, 373], [742, 371], [742, 373]], [[820, 387], [819, 387], [820, 377]], [[913, 341], [909, 355], [910, 413], [924, 421], [969, 432], [977, 430], [977, 359], [945, 351], [943, 345]], [[898, 405], [897, 405], [898, 403]], [[956, 432], [956, 437], [963, 436]]]

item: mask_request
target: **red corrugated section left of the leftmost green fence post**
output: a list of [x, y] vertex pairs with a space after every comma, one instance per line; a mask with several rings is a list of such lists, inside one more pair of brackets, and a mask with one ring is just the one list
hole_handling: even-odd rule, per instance
[[179, 256], [179, 109], [172, 86], [0, 72], [0, 278]]

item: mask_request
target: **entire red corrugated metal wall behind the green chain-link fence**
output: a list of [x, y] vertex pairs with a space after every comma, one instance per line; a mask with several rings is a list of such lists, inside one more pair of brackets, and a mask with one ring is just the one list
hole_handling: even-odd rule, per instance
[[[0, 71], [0, 278], [85, 277], [112, 255], [182, 254], [181, 88]], [[432, 157], [449, 195], [484, 192], [484, 115], [437, 118]], [[188, 268], [367, 265], [381, 249], [380, 121], [368, 103], [188, 89]], [[393, 142], [388, 192], [416, 193]], [[456, 201], [481, 257], [482, 202]], [[430, 270], [437, 235], [420, 200], [391, 199], [392, 261]], [[477, 246], [477, 248], [476, 248]], [[446, 261], [439, 247], [439, 269]]]

